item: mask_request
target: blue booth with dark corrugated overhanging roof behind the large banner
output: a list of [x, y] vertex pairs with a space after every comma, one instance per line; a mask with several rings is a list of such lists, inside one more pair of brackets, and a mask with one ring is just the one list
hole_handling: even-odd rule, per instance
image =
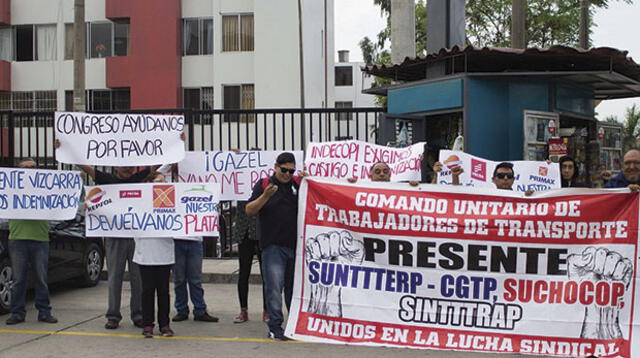
[[395, 83], [365, 92], [387, 96], [382, 144], [410, 127], [410, 142], [426, 141], [431, 153], [462, 135], [473, 155], [544, 160], [549, 141], [560, 137], [579, 163], [579, 181], [591, 183], [600, 169], [595, 101], [640, 96], [640, 65], [626, 55], [612, 48], [454, 46], [365, 67]]

